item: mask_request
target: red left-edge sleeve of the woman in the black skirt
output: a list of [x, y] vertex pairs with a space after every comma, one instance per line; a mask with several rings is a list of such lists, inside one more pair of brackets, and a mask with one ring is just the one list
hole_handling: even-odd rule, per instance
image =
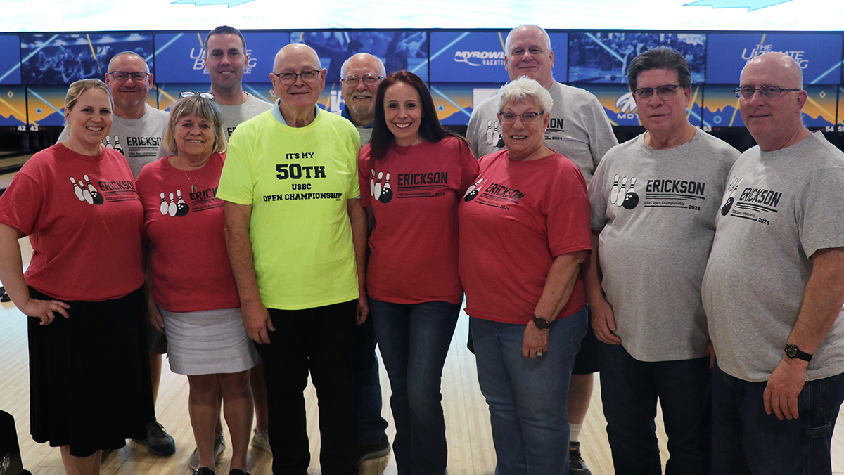
[[43, 204], [44, 185], [30, 175], [18, 172], [0, 196], [0, 223], [30, 235], [35, 231], [35, 223]]

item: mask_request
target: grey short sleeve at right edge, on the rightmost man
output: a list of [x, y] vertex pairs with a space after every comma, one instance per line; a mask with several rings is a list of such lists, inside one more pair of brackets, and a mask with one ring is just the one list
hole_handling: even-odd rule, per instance
[[844, 167], [815, 171], [795, 203], [800, 244], [807, 257], [844, 246]]

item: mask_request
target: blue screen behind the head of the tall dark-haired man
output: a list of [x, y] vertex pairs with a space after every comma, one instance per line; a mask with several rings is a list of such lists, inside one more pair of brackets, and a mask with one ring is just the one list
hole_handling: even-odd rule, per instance
[[[155, 35], [156, 83], [210, 84], [203, 42], [208, 31]], [[265, 83], [273, 72], [275, 53], [289, 43], [287, 33], [244, 32], [249, 62], [244, 83]]]

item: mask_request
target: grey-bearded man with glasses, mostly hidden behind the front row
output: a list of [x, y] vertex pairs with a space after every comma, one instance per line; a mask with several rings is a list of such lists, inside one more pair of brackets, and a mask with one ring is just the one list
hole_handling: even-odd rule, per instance
[[[372, 136], [375, 121], [375, 96], [378, 84], [386, 75], [384, 63], [369, 53], [350, 57], [340, 68], [344, 104], [340, 116], [348, 119], [360, 133], [363, 147]], [[375, 353], [375, 327], [372, 319], [354, 329], [354, 402], [358, 413], [358, 443], [364, 462], [390, 453], [387, 421], [381, 417], [381, 381], [378, 379], [378, 357]]]

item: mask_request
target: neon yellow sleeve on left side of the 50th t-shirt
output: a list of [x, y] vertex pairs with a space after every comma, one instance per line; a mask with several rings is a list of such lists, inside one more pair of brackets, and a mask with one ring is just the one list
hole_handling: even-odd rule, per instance
[[227, 202], [252, 205], [255, 183], [252, 179], [252, 159], [255, 153], [251, 134], [245, 127], [237, 127], [231, 134], [223, 172], [219, 177], [217, 197]]

